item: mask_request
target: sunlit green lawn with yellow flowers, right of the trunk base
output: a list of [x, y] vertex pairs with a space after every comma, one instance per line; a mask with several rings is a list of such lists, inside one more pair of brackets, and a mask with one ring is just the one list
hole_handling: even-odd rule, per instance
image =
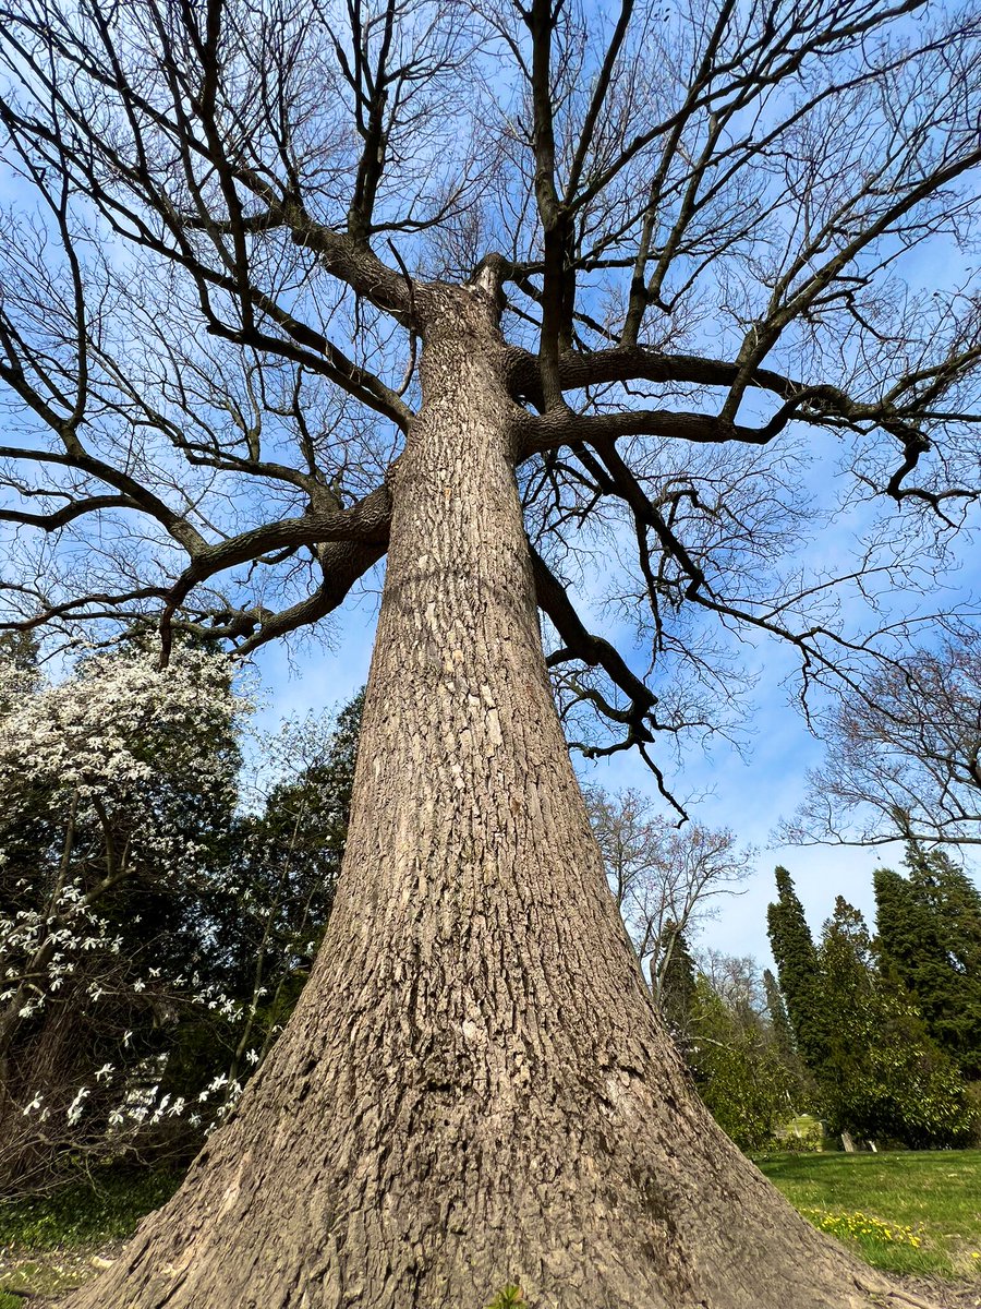
[[757, 1162], [808, 1221], [874, 1267], [981, 1287], [981, 1151], [782, 1155]]

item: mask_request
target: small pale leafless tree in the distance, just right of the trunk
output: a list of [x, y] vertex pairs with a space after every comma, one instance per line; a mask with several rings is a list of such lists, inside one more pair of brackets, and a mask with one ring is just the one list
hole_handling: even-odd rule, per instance
[[633, 788], [610, 795], [587, 787], [585, 796], [610, 889], [659, 1001], [679, 937], [691, 940], [698, 923], [718, 914], [719, 895], [740, 894], [753, 851], [739, 850], [727, 829], [666, 822]]

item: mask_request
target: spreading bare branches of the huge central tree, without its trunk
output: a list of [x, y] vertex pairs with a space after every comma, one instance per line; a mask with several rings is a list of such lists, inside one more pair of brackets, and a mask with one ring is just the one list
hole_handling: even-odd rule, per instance
[[[977, 289], [922, 275], [977, 220], [972, 9], [1, 16], [9, 626], [323, 620], [386, 552], [425, 288], [462, 283], [500, 298], [579, 745], [731, 723], [732, 634], [804, 687], [892, 660], [900, 615], [836, 594], [922, 584], [978, 496]], [[814, 461], [899, 529], [803, 563]], [[574, 607], [598, 546], [644, 678]]]

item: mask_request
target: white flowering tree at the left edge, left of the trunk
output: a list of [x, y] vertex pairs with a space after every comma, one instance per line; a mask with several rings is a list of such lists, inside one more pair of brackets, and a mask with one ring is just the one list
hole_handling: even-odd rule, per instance
[[203, 651], [166, 669], [98, 653], [58, 685], [0, 666], [0, 1189], [186, 1110], [153, 1085], [153, 1034], [182, 1004], [233, 1012], [195, 970], [196, 894], [228, 839], [247, 708]]

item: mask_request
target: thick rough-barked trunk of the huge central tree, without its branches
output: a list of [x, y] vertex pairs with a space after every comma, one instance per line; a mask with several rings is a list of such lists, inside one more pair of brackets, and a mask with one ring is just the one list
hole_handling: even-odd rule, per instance
[[426, 296], [327, 939], [234, 1119], [71, 1305], [883, 1304], [654, 1013], [548, 687], [490, 301]]

